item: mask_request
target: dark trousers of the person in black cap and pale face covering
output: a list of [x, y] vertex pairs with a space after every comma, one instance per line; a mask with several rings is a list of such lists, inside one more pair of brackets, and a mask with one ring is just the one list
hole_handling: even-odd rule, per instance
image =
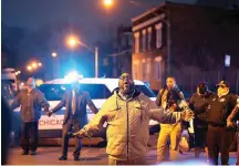
[[210, 164], [218, 165], [218, 156], [221, 153], [221, 165], [228, 165], [229, 141], [227, 133], [226, 127], [208, 125], [207, 145]]

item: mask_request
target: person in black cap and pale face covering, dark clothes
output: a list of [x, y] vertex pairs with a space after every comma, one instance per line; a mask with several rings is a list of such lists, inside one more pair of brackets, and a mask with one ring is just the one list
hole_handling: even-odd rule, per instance
[[227, 118], [237, 104], [237, 95], [229, 93], [229, 84], [221, 81], [217, 84], [217, 95], [208, 100], [206, 121], [208, 123], [207, 144], [210, 164], [218, 165], [218, 155], [221, 154], [221, 165], [229, 162], [229, 129]]

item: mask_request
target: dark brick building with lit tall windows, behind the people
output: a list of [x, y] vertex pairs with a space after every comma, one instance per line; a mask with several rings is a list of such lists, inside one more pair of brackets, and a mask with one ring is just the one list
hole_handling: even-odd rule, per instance
[[[239, 10], [165, 2], [133, 21], [133, 75], [164, 86], [167, 75], [194, 92], [200, 81], [214, 85], [226, 73], [233, 91], [239, 84]], [[230, 66], [225, 68], [225, 55]]]

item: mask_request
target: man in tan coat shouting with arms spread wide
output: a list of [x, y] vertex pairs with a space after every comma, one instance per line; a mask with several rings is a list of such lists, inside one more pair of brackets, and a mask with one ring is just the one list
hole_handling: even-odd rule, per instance
[[193, 114], [190, 111], [165, 113], [149, 97], [135, 89], [133, 77], [128, 73], [121, 75], [118, 86], [119, 89], [104, 103], [90, 124], [77, 134], [91, 136], [107, 122], [108, 164], [146, 164], [149, 120], [176, 123], [180, 120], [190, 120]]

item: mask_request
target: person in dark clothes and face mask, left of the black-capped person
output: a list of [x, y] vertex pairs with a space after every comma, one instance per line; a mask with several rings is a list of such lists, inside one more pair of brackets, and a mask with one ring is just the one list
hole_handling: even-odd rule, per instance
[[206, 157], [208, 160], [208, 147], [207, 147], [207, 123], [201, 121], [198, 116], [206, 112], [208, 106], [208, 98], [214, 94], [208, 90], [206, 83], [199, 83], [197, 85], [197, 92], [194, 93], [189, 101], [189, 106], [195, 114], [194, 118], [194, 133], [195, 133], [195, 157], [198, 158], [201, 152], [201, 148], [205, 147]]

